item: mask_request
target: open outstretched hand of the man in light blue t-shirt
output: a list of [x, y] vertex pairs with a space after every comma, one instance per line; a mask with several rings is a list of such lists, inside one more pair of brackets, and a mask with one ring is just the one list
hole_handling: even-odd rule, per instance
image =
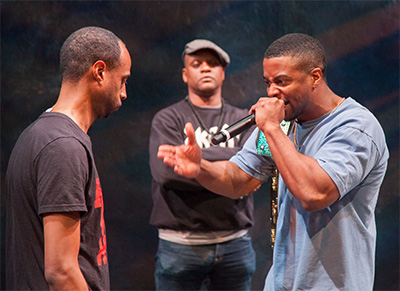
[[185, 125], [187, 145], [161, 145], [157, 157], [174, 168], [174, 172], [186, 178], [196, 178], [200, 174], [201, 149], [191, 123]]

